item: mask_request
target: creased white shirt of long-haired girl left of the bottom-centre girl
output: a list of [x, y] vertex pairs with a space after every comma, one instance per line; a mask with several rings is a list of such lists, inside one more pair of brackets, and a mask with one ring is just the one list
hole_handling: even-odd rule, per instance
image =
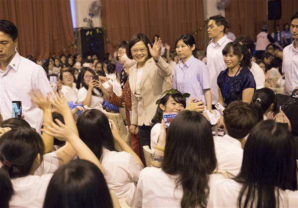
[[119, 199], [125, 198], [130, 205], [142, 166], [130, 153], [110, 151], [106, 148], [103, 148], [101, 165], [109, 189], [113, 190]]

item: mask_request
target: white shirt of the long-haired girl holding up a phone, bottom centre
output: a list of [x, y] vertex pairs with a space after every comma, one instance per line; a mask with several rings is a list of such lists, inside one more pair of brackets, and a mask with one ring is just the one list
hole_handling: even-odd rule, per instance
[[[212, 174], [209, 187], [216, 180], [222, 179], [220, 174]], [[161, 168], [147, 167], [141, 171], [134, 197], [133, 208], [179, 208], [183, 197], [181, 186], [176, 187], [176, 176], [166, 174]]]

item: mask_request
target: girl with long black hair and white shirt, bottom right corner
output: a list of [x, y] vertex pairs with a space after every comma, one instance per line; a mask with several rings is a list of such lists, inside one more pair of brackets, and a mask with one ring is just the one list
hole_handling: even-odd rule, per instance
[[295, 144], [288, 130], [273, 120], [257, 124], [245, 143], [240, 173], [216, 182], [208, 207], [297, 208]]

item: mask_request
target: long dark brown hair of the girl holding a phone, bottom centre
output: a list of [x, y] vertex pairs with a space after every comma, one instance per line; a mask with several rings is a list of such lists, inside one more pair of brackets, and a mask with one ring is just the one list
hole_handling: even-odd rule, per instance
[[182, 208], [206, 207], [209, 175], [217, 168], [210, 124], [195, 111], [182, 111], [166, 133], [162, 170], [178, 175], [182, 186]]

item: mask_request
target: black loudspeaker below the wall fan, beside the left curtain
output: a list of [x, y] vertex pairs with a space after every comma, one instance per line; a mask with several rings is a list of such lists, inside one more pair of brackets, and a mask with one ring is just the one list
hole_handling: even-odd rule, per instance
[[82, 59], [87, 56], [97, 55], [98, 61], [104, 57], [104, 35], [101, 27], [75, 28], [75, 42], [77, 53]]

